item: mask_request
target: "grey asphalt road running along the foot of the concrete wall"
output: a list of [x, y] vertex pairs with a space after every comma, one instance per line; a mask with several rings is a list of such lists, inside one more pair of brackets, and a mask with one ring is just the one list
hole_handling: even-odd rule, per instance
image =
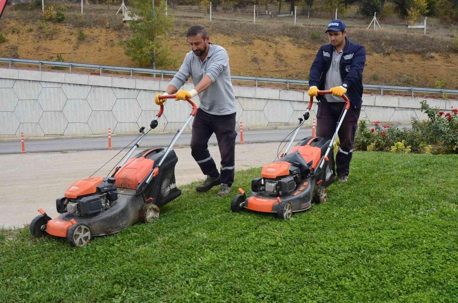
[[[243, 140], [247, 143], [254, 142], [273, 142], [282, 141], [294, 129], [284, 130], [244, 130]], [[311, 135], [311, 128], [301, 128], [296, 139], [300, 140], [303, 137]], [[240, 131], [237, 131], [238, 136], [236, 142], [240, 142]], [[147, 134], [143, 139], [141, 146], [143, 147], [158, 147], [168, 146], [175, 134]], [[122, 148], [135, 140], [136, 136], [112, 136], [111, 145], [113, 148]], [[135, 142], [135, 141], [134, 141]], [[132, 142], [130, 145], [134, 144]], [[191, 142], [191, 133], [183, 133], [175, 146], [186, 146]], [[216, 144], [216, 137], [212, 135], [209, 144]], [[26, 152], [39, 151], [84, 151], [106, 149], [108, 146], [108, 137], [93, 137], [80, 139], [50, 139], [31, 141], [26, 139]], [[0, 142], [0, 154], [9, 154], [21, 152], [21, 141]]]

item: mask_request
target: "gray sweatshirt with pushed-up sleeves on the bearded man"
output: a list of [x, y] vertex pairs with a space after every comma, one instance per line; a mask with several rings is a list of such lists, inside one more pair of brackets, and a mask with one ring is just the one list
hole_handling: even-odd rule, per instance
[[175, 74], [170, 84], [178, 90], [191, 76], [192, 82], [196, 86], [205, 75], [212, 79], [213, 84], [199, 93], [199, 108], [213, 115], [235, 113], [235, 97], [234, 88], [230, 81], [229, 56], [227, 51], [219, 45], [210, 43], [207, 57], [203, 62], [193, 51], [187, 53], [180, 70]]

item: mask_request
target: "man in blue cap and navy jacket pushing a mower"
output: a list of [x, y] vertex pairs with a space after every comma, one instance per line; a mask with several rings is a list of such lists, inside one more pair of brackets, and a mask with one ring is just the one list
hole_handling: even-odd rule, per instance
[[[345, 105], [342, 96], [346, 94], [350, 100], [350, 108], [338, 132], [340, 147], [336, 156], [338, 180], [346, 182], [363, 102], [366, 50], [347, 38], [345, 23], [341, 20], [331, 21], [326, 33], [330, 43], [322, 45], [316, 53], [310, 68], [308, 94], [320, 101], [316, 113], [316, 135], [320, 137], [333, 136]], [[332, 95], [317, 95], [318, 90], [329, 90]]]

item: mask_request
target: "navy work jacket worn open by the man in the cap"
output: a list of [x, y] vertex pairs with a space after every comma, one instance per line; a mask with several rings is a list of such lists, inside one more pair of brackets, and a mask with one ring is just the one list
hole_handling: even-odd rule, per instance
[[[310, 68], [309, 85], [316, 86], [320, 91], [325, 89], [326, 74], [333, 60], [334, 47], [331, 43], [324, 44], [316, 53]], [[363, 103], [363, 70], [366, 62], [364, 46], [351, 42], [345, 37], [344, 53], [340, 58], [340, 76], [342, 85], [347, 88], [345, 95], [354, 109], [360, 109]], [[329, 87], [330, 88], [330, 87]], [[320, 100], [323, 95], [316, 96]]]

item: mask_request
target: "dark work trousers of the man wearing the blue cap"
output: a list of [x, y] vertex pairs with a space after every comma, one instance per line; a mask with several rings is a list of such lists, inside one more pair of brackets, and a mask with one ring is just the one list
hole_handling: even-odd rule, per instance
[[[332, 138], [337, 128], [338, 119], [344, 110], [345, 102], [327, 102], [322, 100], [318, 103], [316, 113], [316, 135], [319, 137]], [[358, 128], [358, 119], [361, 109], [354, 109], [350, 105], [344, 121], [340, 125], [338, 137], [340, 147], [337, 151], [336, 166], [337, 176], [344, 177], [350, 173], [350, 161], [353, 155], [353, 143], [356, 129]]]

